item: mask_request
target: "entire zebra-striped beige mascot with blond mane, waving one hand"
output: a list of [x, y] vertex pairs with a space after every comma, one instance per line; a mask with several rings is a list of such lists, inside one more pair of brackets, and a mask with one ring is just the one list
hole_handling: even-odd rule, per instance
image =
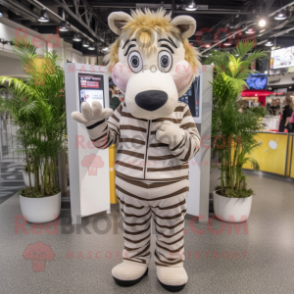
[[113, 113], [86, 102], [72, 117], [84, 124], [97, 148], [118, 144], [116, 193], [124, 219], [123, 262], [112, 270], [121, 286], [148, 273], [151, 218], [156, 230], [154, 259], [161, 285], [181, 290], [188, 161], [200, 146], [189, 107], [178, 101], [190, 87], [200, 63], [187, 38], [196, 29], [189, 16], [171, 19], [164, 10], [111, 13], [118, 35], [106, 61], [125, 102]]

